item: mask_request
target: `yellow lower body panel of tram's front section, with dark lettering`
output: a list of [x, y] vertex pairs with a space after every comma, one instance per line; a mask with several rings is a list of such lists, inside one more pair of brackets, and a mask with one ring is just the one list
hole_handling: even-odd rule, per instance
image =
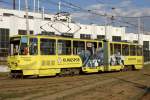
[[11, 70], [22, 70], [23, 75], [56, 75], [60, 73], [61, 68], [82, 66], [82, 61], [77, 55], [15, 56], [9, 57], [8, 61]]

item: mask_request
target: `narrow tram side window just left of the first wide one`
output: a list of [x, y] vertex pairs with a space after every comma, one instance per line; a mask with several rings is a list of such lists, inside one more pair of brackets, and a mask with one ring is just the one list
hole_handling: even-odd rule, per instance
[[38, 39], [37, 38], [30, 38], [29, 54], [30, 55], [37, 55], [38, 54]]

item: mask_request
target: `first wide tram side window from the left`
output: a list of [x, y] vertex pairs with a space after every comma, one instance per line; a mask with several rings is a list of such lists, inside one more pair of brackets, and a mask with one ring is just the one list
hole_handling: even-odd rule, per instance
[[54, 55], [55, 54], [56, 40], [53, 39], [40, 39], [41, 55]]

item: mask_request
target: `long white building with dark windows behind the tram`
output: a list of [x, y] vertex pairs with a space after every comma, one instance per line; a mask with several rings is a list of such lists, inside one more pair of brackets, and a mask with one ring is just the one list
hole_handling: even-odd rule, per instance
[[[125, 27], [86, 25], [72, 22], [68, 13], [44, 14], [29, 12], [30, 34], [65, 35], [83, 39], [105, 39], [110, 41], [137, 42], [138, 35], [126, 33]], [[107, 34], [106, 34], [107, 33]], [[8, 55], [9, 36], [26, 34], [26, 14], [24, 11], [0, 8], [0, 60]], [[150, 50], [150, 35], [140, 35], [144, 50]]]

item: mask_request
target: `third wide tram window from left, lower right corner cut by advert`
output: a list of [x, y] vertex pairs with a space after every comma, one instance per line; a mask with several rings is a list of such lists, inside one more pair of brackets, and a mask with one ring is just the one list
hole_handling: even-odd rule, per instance
[[85, 42], [84, 41], [73, 41], [73, 54], [80, 54], [85, 50]]

